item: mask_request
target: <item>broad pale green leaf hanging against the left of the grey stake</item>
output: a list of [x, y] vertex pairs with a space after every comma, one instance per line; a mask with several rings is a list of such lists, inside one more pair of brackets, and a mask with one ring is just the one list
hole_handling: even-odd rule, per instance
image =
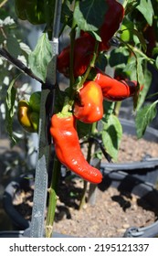
[[37, 46], [29, 55], [28, 62], [31, 70], [37, 77], [45, 82], [47, 77], [47, 66], [52, 59], [52, 48], [47, 38], [47, 34], [43, 33], [37, 41]]

